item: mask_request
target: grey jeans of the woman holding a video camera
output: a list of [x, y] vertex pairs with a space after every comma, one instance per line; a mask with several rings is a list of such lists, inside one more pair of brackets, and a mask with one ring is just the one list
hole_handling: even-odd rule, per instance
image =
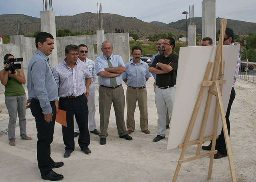
[[20, 96], [5, 96], [4, 101], [10, 118], [8, 124], [9, 141], [12, 142], [15, 140], [17, 111], [19, 117], [20, 137], [26, 138], [26, 94]]

